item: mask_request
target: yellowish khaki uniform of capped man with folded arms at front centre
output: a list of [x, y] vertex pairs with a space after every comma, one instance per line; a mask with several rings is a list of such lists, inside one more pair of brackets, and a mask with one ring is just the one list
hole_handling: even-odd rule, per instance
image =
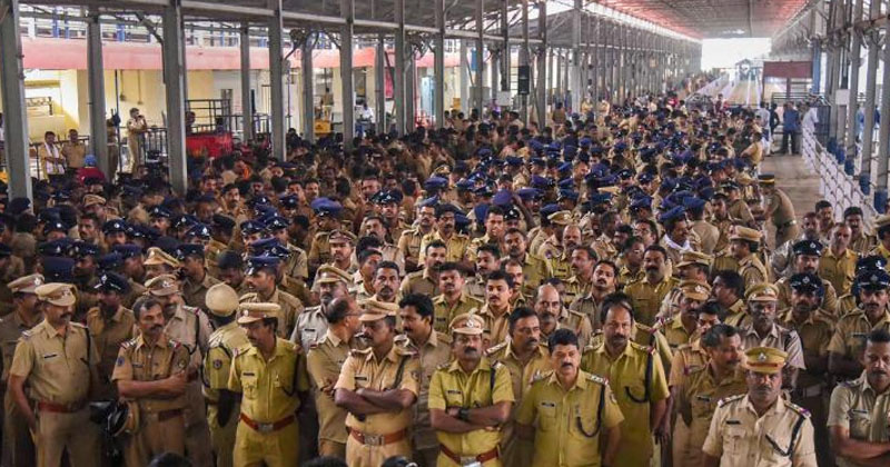
[[[448, 407], [488, 407], [515, 400], [507, 368], [483, 357], [476, 368], [467, 375], [457, 361], [439, 367], [429, 382], [429, 409], [445, 410]], [[501, 430], [477, 429], [456, 434], [436, 431], [441, 449], [459, 457], [476, 457], [497, 449]], [[459, 466], [454, 459], [439, 453], [438, 467]], [[500, 467], [501, 459], [494, 458], [483, 466]], [[376, 467], [376, 466], [375, 466]]]

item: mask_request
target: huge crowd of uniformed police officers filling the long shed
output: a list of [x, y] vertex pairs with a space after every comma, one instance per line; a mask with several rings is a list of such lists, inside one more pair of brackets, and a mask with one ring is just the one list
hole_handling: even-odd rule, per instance
[[2, 197], [1, 465], [890, 465], [890, 216], [746, 109], [446, 123]]

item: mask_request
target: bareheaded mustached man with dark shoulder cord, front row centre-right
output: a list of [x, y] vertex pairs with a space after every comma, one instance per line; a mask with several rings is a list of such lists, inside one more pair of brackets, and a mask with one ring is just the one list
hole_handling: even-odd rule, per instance
[[535, 378], [516, 414], [520, 435], [528, 443], [534, 437], [525, 463], [615, 465], [624, 416], [609, 381], [578, 368], [581, 351], [570, 329], [554, 332], [547, 347], [552, 371]]

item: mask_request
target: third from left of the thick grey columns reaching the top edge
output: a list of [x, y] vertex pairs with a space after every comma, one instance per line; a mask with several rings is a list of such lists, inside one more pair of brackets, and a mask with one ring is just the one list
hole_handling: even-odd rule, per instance
[[281, 0], [267, 0], [267, 7], [271, 9], [275, 14], [268, 21], [269, 27], [269, 97], [271, 98], [271, 109], [269, 117], [271, 118], [271, 135], [269, 141], [271, 142], [270, 155], [285, 160], [287, 156], [287, 145], [285, 143], [285, 92], [284, 92], [284, 56], [281, 30], [284, 24], [281, 22]]

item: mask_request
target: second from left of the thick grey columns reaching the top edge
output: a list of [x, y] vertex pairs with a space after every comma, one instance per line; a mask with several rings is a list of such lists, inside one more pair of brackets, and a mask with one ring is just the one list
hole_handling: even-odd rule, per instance
[[182, 10], [178, 1], [164, 7], [164, 85], [167, 98], [167, 159], [170, 183], [179, 195], [188, 187], [186, 173], [186, 67]]

